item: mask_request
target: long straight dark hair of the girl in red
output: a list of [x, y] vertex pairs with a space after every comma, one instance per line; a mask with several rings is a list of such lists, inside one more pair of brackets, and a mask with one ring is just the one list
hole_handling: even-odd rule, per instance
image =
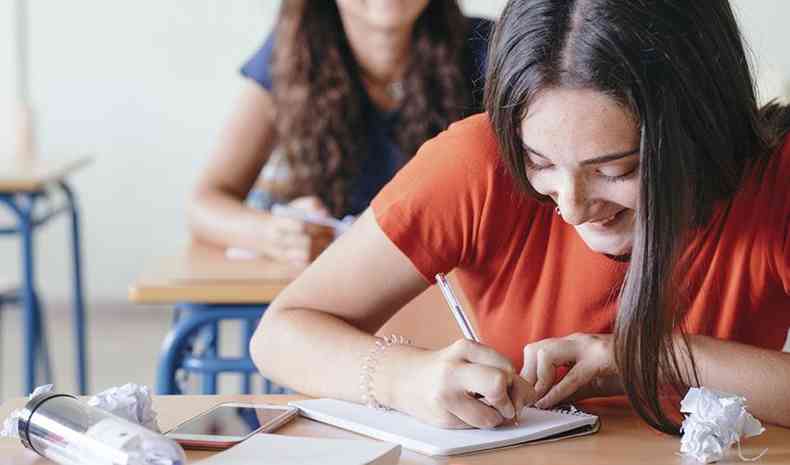
[[509, 170], [533, 194], [521, 122], [540, 91], [560, 87], [602, 92], [639, 122], [641, 193], [614, 353], [635, 410], [677, 434], [664, 387], [680, 395], [699, 383], [673, 281], [679, 252], [770, 156], [790, 111], [758, 108], [727, 0], [511, 0], [490, 44], [486, 110]]

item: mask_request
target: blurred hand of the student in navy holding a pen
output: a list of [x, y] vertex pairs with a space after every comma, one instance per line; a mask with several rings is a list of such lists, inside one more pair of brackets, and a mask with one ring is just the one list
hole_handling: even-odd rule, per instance
[[[330, 216], [318, 197], [299, 197], [288, 205], [314, 215]], [[261, 252], [275, 260], [307, 264], [320, 255], [334, 237], [332, 228], [270, 215], [260, 241]]]

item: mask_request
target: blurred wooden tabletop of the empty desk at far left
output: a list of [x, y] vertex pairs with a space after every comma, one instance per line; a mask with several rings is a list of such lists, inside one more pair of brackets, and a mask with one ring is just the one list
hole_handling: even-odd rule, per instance
[[33, 192], [88, 165], [91, 157], [0, 160], [0, 192]]

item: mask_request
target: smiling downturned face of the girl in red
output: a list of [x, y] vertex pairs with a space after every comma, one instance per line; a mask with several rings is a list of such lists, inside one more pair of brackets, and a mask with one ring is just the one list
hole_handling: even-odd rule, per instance
[[521, 123], [527, 178], [595, 252], [630, 253], [639, 197], [639, 128], [610, 97], [549, 89]]

